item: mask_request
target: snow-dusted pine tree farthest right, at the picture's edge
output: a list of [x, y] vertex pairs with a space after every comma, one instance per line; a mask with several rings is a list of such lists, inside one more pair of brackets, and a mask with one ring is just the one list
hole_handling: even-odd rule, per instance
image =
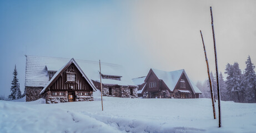
[[247, 85], [245, 93], [247, 94], [248, 103], [256, 103], [256, 74], [254, 71], [255, 66], [250, 60], [250, 56], [245, 62], [246, 68], [244, 71], [244, 80]]

